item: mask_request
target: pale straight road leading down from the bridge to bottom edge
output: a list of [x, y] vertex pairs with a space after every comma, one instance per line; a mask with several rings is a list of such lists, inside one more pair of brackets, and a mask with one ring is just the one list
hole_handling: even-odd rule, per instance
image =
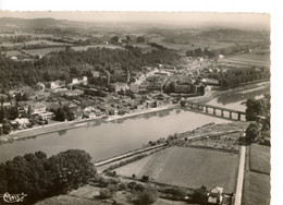
[[241, 201], [242, 201], [244, 173], [245, 173], [245, 158], [246, 158], [246, 146], [242, 146], [238, 173], [237, 173], [237, 189], [236, 189], [236, 196], [235, 196], [235, 205], [241, 205]]

